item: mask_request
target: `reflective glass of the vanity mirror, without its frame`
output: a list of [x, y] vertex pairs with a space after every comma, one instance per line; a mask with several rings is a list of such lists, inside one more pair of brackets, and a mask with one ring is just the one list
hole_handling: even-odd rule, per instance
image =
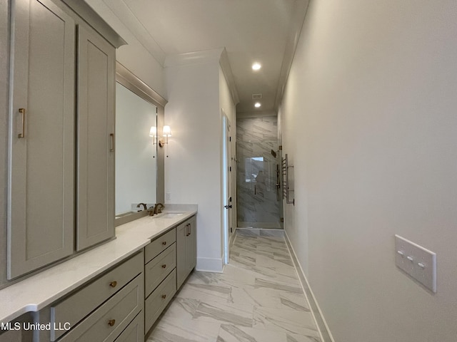
[[[157, 108], [116, 82], [116, 217], [156, 203]], [[152, 136], [151, 136], [152, 135]]]

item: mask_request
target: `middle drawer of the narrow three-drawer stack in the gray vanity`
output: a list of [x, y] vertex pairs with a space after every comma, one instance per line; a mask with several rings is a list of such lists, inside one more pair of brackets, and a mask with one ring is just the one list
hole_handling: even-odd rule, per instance
[[144, 266], [144, 295], [149, 296], [175, 267], [176, 243]]

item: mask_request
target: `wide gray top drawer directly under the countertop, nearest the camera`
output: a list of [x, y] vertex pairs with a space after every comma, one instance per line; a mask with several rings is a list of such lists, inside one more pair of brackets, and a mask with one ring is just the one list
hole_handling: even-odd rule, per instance
[[59, 326], [59, 323], [68, 322], [71, 326], [75, 326], [140, 274], [143, 271], [143, 262], [143, 252], [140, 252], [64, 301], [51, 306], [51, 341], [56, 341], [56, 338], [65, 332], [54, 330], [54, 324]]

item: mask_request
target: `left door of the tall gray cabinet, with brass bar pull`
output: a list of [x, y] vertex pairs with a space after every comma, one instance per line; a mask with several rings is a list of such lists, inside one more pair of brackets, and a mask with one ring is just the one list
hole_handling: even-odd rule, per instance
[[75, 24], [49, 0], [11, 11], [8, 279], [74, 249]]

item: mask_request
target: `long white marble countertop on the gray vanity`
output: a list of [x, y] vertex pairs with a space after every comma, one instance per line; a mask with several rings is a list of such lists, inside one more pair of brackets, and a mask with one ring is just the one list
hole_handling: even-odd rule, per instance
[[[116, 227], [116, 239], [62, 262], [39, 274], [0, 290], [0, 322], [6, 323], [29, 311], [39, 311], [135, 254], [158, 237], [196, 214], [196, 206], [167, 209], [156, 217], [142, 217]], [[174, 207], [170, 208], [174, 209]]]

